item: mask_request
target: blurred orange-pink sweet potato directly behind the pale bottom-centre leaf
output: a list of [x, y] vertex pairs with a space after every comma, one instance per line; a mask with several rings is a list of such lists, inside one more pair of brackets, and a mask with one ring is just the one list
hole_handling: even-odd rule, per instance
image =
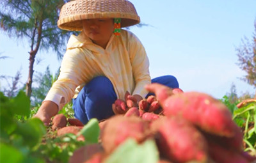
[[102, 146], [111, 153], [126, 139], [133, 138], [137, 143], [143, 142], [149, 134], [146, 121], [136, 116], [116, 115], [109, 118], [102, 132]]

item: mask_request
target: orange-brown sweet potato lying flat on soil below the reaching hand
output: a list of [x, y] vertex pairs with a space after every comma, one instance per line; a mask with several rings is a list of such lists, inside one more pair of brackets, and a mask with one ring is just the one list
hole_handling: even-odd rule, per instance
[[[72, 134], [77, 134], [83, 127], [79, 127], [79, 126], [67, 126], [67, 127], [63, 127], [60, 128], [59, 130], [57, 130], [57, 136], [63, 136], [65, 134], [68, 133], [72, 133]], [[79, 137], [77, 137], [78, 141], [84, 141], [84, 136], [81, 135]]]

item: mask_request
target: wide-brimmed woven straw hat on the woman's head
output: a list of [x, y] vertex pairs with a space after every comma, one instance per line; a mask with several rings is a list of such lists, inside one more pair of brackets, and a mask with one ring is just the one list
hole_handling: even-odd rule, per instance
[[140, 23], [133, 4], [127, 0], [75, 0], [64, 4], [58, 27], [68, 31], [82, 31], [84, 19], [121, 18], [121, 27]]

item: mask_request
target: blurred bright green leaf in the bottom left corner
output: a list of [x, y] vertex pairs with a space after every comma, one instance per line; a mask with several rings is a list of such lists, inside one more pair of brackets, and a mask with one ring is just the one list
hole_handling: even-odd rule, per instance
[[22, 153], [13, 146], [4, 143], [0, 143], [0, 146], [0, 162], [15, 163], [22, 162], [22, 160], [24, 159]]

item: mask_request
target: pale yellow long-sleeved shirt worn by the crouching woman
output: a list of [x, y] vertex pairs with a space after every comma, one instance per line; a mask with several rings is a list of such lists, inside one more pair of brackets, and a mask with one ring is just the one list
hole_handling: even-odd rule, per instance
[[[145, 48], [130, 31], [112, 35], [106, 49], [90, 40], [83, 32], [72, 35], [61, 63], [60, 76], [45, 100], [55, 102], [61, 109], [76, 98], [83, 86], [94, 77], [103, 75], [112, 82], [118, 98], [126, 91], [145, 97], [145, 84], [151, 82]], [[45, 101], [44, 100], [44, 101]]]

